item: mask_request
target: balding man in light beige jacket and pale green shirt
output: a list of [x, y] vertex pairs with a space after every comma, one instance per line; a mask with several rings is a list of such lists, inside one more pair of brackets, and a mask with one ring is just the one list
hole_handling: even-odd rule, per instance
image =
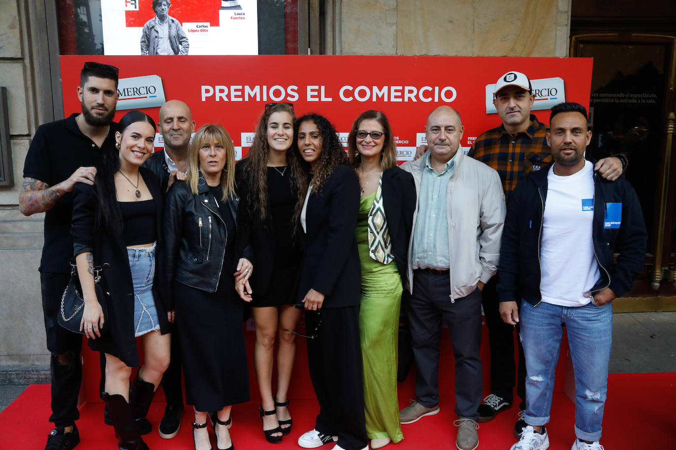
[[456, 447], [479, 445], [481, 289], [496, 273], [505, 201], [498, 172], [465, 156], [460, 114], [441, 106], [427, 117], [428, 149], [402, 165], [418, 207], [408, 252], [406, 304], [416, 361], [416, 400], [402, 424], [439, 412], [439, 340], [445, 318], [456, 360]]

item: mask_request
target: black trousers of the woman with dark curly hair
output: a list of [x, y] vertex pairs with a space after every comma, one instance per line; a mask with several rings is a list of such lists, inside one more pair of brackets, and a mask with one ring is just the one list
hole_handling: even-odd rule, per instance
[[338, 435], [345, 450], [366, 447], [362, 347], [359, 306], [322, 309], [305, 314], [308, 366], [319, 402], [314, 428]]

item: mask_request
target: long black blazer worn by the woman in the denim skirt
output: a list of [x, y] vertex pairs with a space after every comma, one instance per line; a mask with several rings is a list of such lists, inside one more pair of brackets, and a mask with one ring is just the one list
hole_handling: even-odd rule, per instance
[[[162, 189], [160, 180], [149, 169], [140, 167], [141, 177], [155, 200], [155, 237], [157, 246], [155, 261], [160, 260], [162, 246]], [[94, 264], [103, 266], [101, 278], [103, 289], [110, 292], [108, 303], [108, 321], [104, 327], [107, 333], [96, 339], [89, 339], [89, 347], [95, 351], [105, 351], [120, 358], [130, 367], [139, 366], [139, 354], [134, 337], [134, 287], [132, 285], [129, 259], [123, 235], [112, 235], [99, 229], [99, 199], [93, 186], [76, 183], [73, 188], [73, 237], [75, 254], [86, 251], [93, 252]], [[153, 280], [153, 296], [155, 308], [160, 320], [160, 332], [169, 333], [166, 308], [160, 301], [158, 292], [158, 275], [155, 271]]]

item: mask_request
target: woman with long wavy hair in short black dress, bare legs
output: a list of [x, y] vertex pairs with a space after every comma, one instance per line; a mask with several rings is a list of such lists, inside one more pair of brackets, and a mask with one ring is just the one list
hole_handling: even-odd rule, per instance
[[[287, 161], [295, 114], [290, 103], [272, 103], [256, 127], [247, 157], [237, 163], [239, 211], [245, 244], [256, 258], [251, 310], [256, 323], [254, 366], [262, 399], [259, 408], [266, 440], [280, 443], [291, 432], [287, 393], [295, 359], [295, 330], [301, 310], [294, 307], [301, 252], [294, 235], [295, 176]], [[272, 395], [274, 342], [277, 338], [276, 394]]]

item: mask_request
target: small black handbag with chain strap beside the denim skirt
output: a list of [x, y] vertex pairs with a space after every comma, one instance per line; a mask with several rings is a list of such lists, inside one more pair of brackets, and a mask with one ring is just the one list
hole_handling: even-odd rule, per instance
[[[59, 325], [72, 331], [84, 335], [84, 331], [80, 331], [80, 323], [82, 323], [82, 314], [84, 314], [84, 300], [82, 299], [82, 285], [80, 285], [80, 277], [78, 276], [78, 268], [74, 262], [70, 263], [72, 271], [70, 273], [70, 281], [61, 297], [61, 308], [59, 310], [57, 321]], [[101, 285], [101, 266], [94, 267], [94, 289], [96, 298], [99, 300], [101, 309], [103, 310], [104, 325], [99, 329], [99, 333], [108, 329], [108, 308], [107, 299], [110, 298], [110, 293], [106, 292]]]

